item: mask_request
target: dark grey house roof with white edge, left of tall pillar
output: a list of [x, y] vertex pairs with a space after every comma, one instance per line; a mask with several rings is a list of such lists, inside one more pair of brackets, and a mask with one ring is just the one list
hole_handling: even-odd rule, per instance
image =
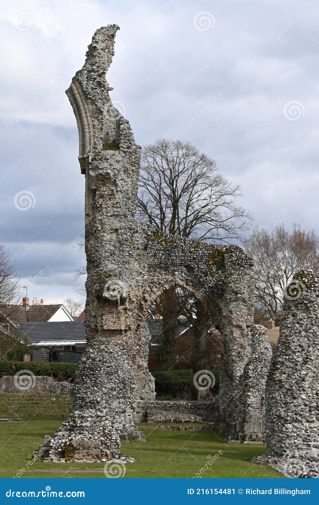
[[74, 345], [86, 342], [83, 321], [28, 322], [20, 326], [20, 331], [38, 345]]

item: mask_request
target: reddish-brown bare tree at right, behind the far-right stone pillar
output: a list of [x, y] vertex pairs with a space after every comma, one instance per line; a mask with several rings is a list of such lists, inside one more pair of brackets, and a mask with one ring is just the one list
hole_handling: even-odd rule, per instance
[[254, 229], [243, 241], [255, 263], [255, 299], [260, 313], [281, 318], [287, 285], [299, 270], [319, 272], [319, 236], [313, 230], [302, 230], [297, 223], [292, 231], [282, 224], [272, 232]]

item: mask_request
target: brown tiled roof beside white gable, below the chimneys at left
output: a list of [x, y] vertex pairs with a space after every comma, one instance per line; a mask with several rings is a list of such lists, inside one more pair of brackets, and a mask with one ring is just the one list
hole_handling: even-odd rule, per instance
[[11, 305], [10, 307], [1, 305], [0, 311], [4, 314], [4, 317], [10, 318], [14, 324], [20, 325], [28, 321], [49, 321], [60, 307], [63, 307], [63, 304], [30, 305], [28, 309], [24, 309], [21, 305]]

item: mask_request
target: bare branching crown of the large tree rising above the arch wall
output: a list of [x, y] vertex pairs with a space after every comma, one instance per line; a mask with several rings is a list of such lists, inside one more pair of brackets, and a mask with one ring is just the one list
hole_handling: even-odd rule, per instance
[[229, 242], [251, 220], [238, 203], [239, 185], [190, 142], [156, 140], [143, 148], [138, 219], [165, 233], [198, 240]]

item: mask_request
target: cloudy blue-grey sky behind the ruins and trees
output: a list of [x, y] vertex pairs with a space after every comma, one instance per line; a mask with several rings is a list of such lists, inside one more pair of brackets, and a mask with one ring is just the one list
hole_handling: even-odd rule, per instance
[[1, 0], [0, 240], [36, 277], [29, 296], [77, 296], [84, 177], [64, 91], [109, 23], [111, 98], [136, 142], [188, 139], [242, 185], [254, 225], [319, 232], [318, 22], [317, 0]]

